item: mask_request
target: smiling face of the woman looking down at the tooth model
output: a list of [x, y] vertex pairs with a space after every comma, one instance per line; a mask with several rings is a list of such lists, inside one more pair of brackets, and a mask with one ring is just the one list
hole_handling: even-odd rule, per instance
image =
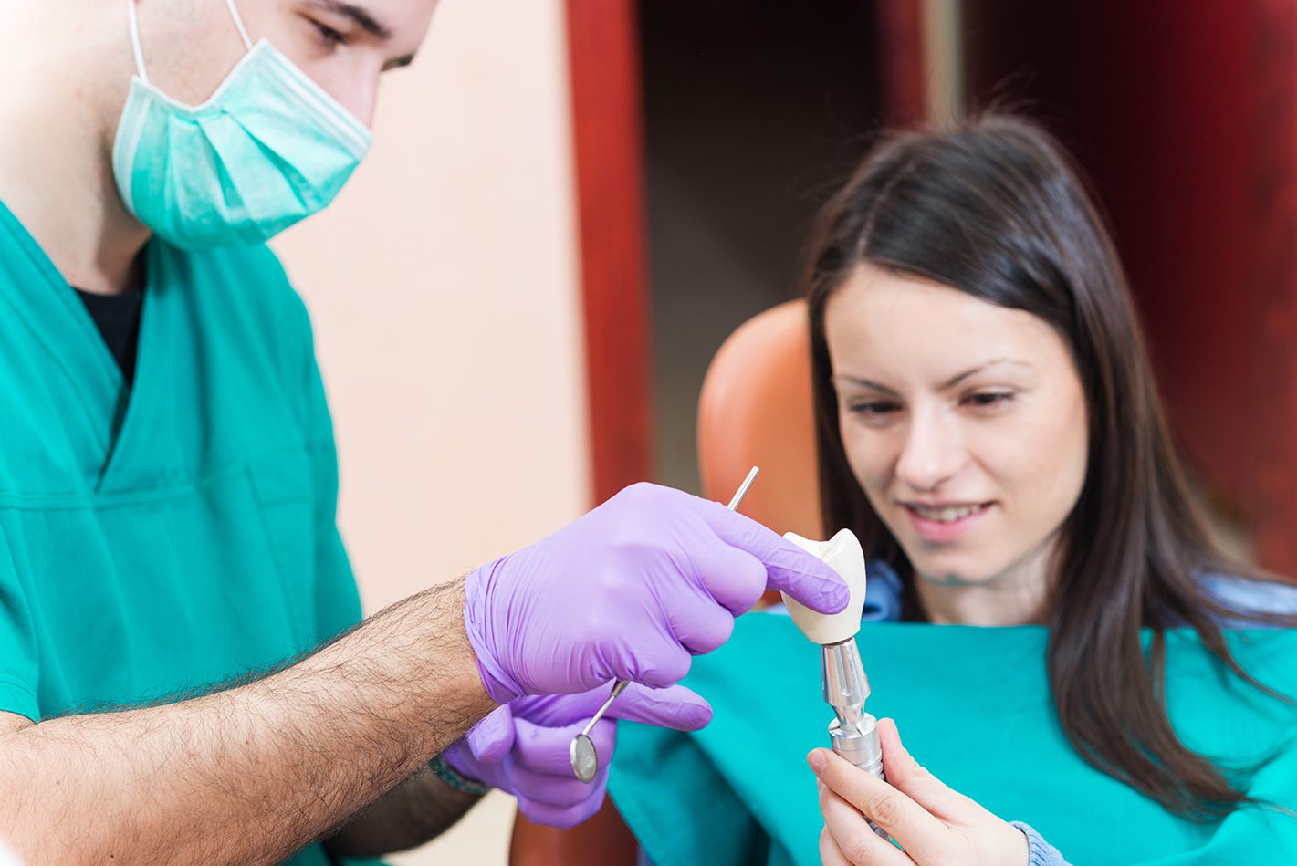
[[825, 331], [847, 459], [914, 569], [1045, 579], [1087, 455], [1084, 393], [1053, 328], [866, 264], [830, 297]]

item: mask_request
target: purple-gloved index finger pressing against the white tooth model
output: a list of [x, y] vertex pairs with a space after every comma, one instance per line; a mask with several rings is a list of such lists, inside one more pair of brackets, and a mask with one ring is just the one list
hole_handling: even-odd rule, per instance
[[820, 557], [720, 503], [699, 499], [698, 506], [721, 541], [761, 561], [769, 589], [782, 590], [820, 613], [838, 613], [847, 607], [847, 582]]

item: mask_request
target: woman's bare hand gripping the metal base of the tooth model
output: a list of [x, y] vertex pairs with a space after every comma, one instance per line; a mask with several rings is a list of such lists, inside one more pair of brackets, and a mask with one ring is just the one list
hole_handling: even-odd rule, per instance
[[[807, 758], [821, 783], [820, 857], [827, 866], [1027, 865], [1026, 835], [921, 767], [901, 745], [896, 722], [879, 720], [878, 738], [887, 782], [829, 749]], [[905, 850], [874, 835], [861, 813]]]

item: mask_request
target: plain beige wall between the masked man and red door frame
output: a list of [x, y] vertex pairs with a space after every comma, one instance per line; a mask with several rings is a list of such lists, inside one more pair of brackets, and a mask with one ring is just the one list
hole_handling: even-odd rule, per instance
[[[340, 522], [374, 611], [529, 543], [589, 490], [560, 0], [442, 0], [375, 146], [278, 244], [315, 322]], [[495, 795], [401, 860], [503, 862]]]

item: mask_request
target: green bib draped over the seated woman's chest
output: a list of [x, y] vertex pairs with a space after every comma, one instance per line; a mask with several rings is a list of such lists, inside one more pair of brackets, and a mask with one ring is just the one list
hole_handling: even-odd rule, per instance
[[[1043, 627], [865, 624], [856, 640], [873, 695], [905, 747], [946, 784], [1023, 821], [1075, 866], [1297, 862], [1297, 817], [1245, 808], [1210, 825], [1087, 765], [1062, 734]], [[1297, 696], [1297, 631], [1230, 634], [1244, 669]], [[820, 815], [805, 755], [833, 710], [820, 650], [786, 616], [754, 613], [694, 661], [685, 685], [716, 717], [695, 734], [623, 723], [610, 790], [659, 866], [818, 863]], [[1297, 709], [1223, 675], [1191, 633], [1167, 635], [1167, 700], [1184, 743], [1244, 766], [1253, 796], [1297, 808]]]

